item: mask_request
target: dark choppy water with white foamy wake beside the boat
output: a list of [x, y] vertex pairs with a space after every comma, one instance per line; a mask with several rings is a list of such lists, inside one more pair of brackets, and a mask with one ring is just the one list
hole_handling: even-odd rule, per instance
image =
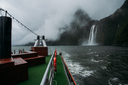
[[49, 53], [53, 49], [62, 52], [77, 85], [128, 85], [128, 47], [49, 46]]

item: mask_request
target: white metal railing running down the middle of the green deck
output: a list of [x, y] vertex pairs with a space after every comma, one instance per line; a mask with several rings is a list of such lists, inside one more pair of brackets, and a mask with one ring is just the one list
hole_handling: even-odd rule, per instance
[[[54, 54], [55, 54], [55, 51], [53, 52], [53, 54], [51, 56], [51, 59], [50, 59], [48, 66], [45, 70], [45, 73], [44, 73], [44, 76], [42, 78], [40, 85], [52, 85], [52, 81], [54, 78], [54, 65], [53, 65], [54, 64], [54, 62], [53, 62]], [[48, 75], [49, 75], [49, 77], [48, 77]]]

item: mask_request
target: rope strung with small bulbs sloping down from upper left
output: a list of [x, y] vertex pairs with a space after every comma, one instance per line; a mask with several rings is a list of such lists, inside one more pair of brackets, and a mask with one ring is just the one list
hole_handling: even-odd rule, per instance
[[[10, 18], [12, 18], [12, 19], [14, 19], [16, 22], [18, 22], [21, 26], [23, 26], [24, 28], [26, 28], [27, 30], [29, 30], [30, 32], [32, 32], [33, 34], [35, 34], [35, 35], [37, 35], [38, 36], [38, 34], [36, 34], [34, 31], [32, 31], [30, 28], [28, 28], [27, 26], [25, 26], [23, 23], [21, 23], [19, 20], [17, 20], [15, 17], [13, 17], [11, 14], [9, 14], [6, 10], [4, 10], [4, 9], [2, 9], [2, 8], [0, 8], [0, 11], [2, 12], [2, 11], [4, 11], [5, 12], [5, 16], [7, 16], [7, 14], [10, 16]], [[1, 13], [0, 12], [0, 13]], [[1, 15], [2, 15], [2, 13], [1, 13]], [[3, 16], [3, 15], [2, 15]]]

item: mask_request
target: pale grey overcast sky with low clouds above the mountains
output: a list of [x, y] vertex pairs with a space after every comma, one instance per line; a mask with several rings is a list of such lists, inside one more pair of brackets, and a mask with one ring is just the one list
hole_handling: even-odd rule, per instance
[[[59, 28], [68, 25], [77, 9], [100, 20], [114, 13], [125, 0], [0, 0], [0, 7], [39, 35], [49, 40], [59, 36]], [[4, 13], [2, 13], [4, 15]], [[32, 42], [36, 36], [16, 21], [12, 23], [12, 44]]]

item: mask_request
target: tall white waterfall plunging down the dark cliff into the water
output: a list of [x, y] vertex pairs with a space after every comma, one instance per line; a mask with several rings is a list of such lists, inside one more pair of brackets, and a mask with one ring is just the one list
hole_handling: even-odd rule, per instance
[[97, 33], [96, 26], [92, 25], [90, 34], [89, 34], [88, 45], [97, 45], [96, 44], [96, 33]]

